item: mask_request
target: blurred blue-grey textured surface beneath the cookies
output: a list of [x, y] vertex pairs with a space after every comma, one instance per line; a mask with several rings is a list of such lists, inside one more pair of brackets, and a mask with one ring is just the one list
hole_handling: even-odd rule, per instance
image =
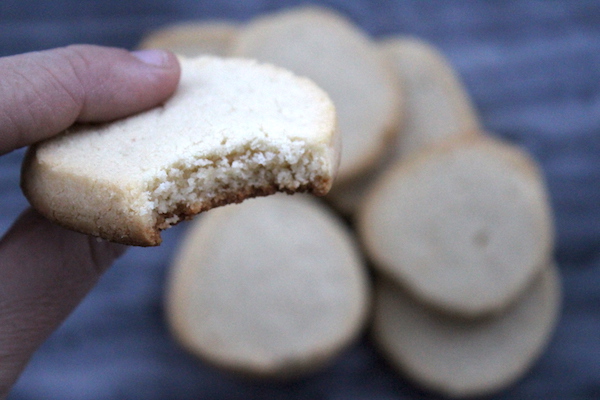
[[[71, 43], [133, 48], [188, 19], [248, 20], [284, 0], [2, 0], [0, 56]], [[600, 398], [600, 2], [330, 0], [370, 34], [413, 35], [455, 67], [486, 130], [526, 148], [547, 179], [564, 306], [527, 375], [495, 399]], [[1, 79], [0, 71], [0, 79]], [[1, 128], [0, 128], [1, 129]], [[0, 232], [26, 207], [23, 151], [0, 158]], [[164, 278], [186, 225], [131, 249], [37, 352], [10, 398], [428, 399], [363, 338], [303, 380], [256, 383], [181, 350], [163, 317]]]

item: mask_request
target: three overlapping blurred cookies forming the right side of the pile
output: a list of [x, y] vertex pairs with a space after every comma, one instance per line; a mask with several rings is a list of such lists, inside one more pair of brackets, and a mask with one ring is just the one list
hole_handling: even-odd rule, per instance
[[403, 83], [404, 125], [373, 179], [334, 192], [336, 204], [358, 199], [344, 210], [377, 272], [372, 337], [424, 388], [491, 394], [535, 362], [559, 314], [543, 176], [482, 132], [433, 47], [390, 38], [380, 48]]

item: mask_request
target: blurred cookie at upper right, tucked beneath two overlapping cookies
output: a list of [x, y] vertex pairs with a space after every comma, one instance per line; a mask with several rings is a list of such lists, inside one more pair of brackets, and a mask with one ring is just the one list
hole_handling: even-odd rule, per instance
[[376, 177], [395, 161], [481, 131], [466, 90], [440, 51], [425, 41], [401, 36], [388, 38], [379, 46], [400, 78], [404, 117], [379, 166], [344, 184], [336, 183], [328, 194], [332, 204], [350, 216]]

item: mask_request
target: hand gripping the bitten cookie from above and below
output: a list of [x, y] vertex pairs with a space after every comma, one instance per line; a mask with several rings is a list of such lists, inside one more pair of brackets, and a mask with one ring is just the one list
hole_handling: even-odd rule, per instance
[[[0, 58], [0, 155], [75, 122], [151, 108], [179, 81], [164, 51], [71, 46]], [[27, 210], [0, 241], [0, 398], [32, 353], [125, 247], [51, 224]]]

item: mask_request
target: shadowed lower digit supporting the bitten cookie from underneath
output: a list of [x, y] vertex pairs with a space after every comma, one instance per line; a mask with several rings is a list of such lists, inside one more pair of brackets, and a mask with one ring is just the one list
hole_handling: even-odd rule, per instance
[[0, 240], [0, 398], [126, 246], [25, 211]]

